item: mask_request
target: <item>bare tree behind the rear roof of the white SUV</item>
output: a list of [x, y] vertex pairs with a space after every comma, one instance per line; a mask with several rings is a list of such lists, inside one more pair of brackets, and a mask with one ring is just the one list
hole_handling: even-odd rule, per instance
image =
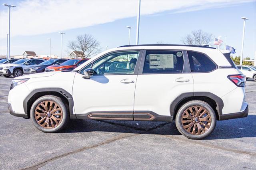
[[182, 42], [187, 45], [203, 45], [213, 40], [212, 34], [203, 32], [202, 30], [192, 31], [191, 34], [182, 38]]

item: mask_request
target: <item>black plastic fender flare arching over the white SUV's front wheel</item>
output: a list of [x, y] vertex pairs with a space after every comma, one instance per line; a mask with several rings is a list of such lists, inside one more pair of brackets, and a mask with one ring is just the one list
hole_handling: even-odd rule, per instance
[[39, 93], [39, 92], [57, 92], [60, 95], [62, 95], [63, 97], [65, 97], [68, 100], [70, 118], [76, 119], [76, 115], [73, 113], [73, 107], [74, 107], [73, 97], [70, 93], [68, 93], [66, 90], [64, 90], [62, 88], [40, 88], [40, 89], [34, 89], [33, 91], [31, 91], [31, 93], [23, 101], [23, 108], [24, 108], [24, 111], [26, 114], [29, 114], [28, 108], [27, 108], [28, 101], [34, 95], [36, 95], [36, 93]]

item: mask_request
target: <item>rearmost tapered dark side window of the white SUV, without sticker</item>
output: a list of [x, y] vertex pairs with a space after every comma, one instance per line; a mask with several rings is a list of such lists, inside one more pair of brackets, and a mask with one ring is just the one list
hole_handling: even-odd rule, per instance
[[210, 72], [216, 69], [216, 65], [206, 55], [193, 51], [187, 52], [192, 73]]

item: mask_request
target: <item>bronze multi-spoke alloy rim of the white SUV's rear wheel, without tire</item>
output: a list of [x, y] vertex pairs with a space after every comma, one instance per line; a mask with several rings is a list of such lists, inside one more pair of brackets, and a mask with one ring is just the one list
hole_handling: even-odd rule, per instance
[[184, 111], [181, 117], [182, 127], [190, 134], [203, 134], [212, 123], [212, 117], [207, 109], [192, 106]]

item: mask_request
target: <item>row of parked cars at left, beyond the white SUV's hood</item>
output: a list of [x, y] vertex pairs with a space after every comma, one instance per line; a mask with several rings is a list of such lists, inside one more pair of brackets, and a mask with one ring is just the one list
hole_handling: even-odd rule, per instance
[[47, 71], [72, 70], [88, 59], [35, 59], [6, 58], [0, 60], [0, 75], [18, 77], [23, 74], [41, 73]]

